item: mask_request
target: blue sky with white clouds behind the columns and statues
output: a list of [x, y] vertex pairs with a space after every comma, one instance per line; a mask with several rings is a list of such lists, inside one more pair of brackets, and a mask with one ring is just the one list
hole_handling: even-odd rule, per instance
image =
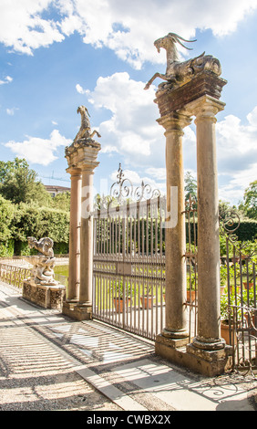
[[[257, 179], [257, 0], [0, 0], [1, 160], [26, 158], [43, 183], [69, 186], [65, 146], [84, 104], [102, 136], [96, 192], [108, 192], [119, 162], [135, 184], [164, 191], [160, 80], [143, 88], [165, 72], [153, 42], [169, 32], [197, 38], [181, 59], [205, 51], [221, 61], [219, 193], [238, 204]], [[196, 176], [193, 123], [183, 145], [185, 172]]]

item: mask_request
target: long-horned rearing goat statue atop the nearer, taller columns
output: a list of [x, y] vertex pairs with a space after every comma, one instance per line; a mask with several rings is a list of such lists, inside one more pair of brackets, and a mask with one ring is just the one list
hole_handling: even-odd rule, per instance
[[[189, 82], [195, 74], [202, 70], [209, 70], [218, 76], [221, 75], [220, 61], [217, 58], [213, 58], [211, 55], [204, 55], [205, 52], [203, 52], [199, 57], [180, 62], [176, 43], [180, 43], [182, 47], [185, 47], [181, 40], [184, 42], [196, 41], [186, 40], [175, 33], [169, 33], [167, 36], [161, 37], [154, 42], [154, 46], [157, 48], [158, 52], [160, 47], [166, 49], [167, 68], [165, 75], [155, 73], [155, 75], [149, 79], [145, 89], [149, 89], [150, 85], [156, 78], [162, 78], [169, 84], [172, 84], [172, 88], [177, 88]], [[185, 48], [189, 50], [191, 49], [191, 47]], [[163, 85], [165, 84], [160, 84], [160, 86]]]

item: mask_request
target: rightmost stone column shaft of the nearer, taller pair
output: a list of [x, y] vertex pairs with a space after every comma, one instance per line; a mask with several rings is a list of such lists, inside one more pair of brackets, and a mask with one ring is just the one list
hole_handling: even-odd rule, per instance
[[220, 235], [215, 115], [224, 103], [210, 96], [192, 102], [196, 116], [198, 176], [198, 335], [193, 345], [213, 351], [221, 340]]

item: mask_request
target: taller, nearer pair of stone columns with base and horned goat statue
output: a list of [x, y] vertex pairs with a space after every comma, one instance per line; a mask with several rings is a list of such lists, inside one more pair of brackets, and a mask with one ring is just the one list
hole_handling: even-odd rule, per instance
[[[227, 83], [220, 78], [221, 65], [217, 58], [204, 56], [180, 63], [175, 43], [181, 37], [170, 33], [155, 42], [167, 50], [165, 75], [159, 77], [154, 100], [159, 106], [157, 120], [165, 129], [167, 169], [167, 212], [176, 205], [176, 222], [166, 229], [166, 315], [165, 330], [156, 339], [156, 352], [162, 357], [188, 366], [206, 375], [224, 371], [228, 356], [220, 335], [219, 283], [219, 200], [216, 162], [215, 115], [223, 110], [221, 90]], [[198, 175], [198, 336], [193, 345], [180, 348], [186, 336], [184, 315], [186, 269], [184, 234], [184, 183], [182, 160], [182, 129], [195, 116], [197, 134]], [[177, 200], [171, 199], [171, 189], [177, 190]], [[180, 227], [181, 225], [181, 227]], [[210, 262], [211, 261], [211, 262]], [[207, 277], [208, 275], [208, 277]], [[179, 340], [179, 342], [177, 341]], [[179, 345], [179, 347], [178, 347]]]

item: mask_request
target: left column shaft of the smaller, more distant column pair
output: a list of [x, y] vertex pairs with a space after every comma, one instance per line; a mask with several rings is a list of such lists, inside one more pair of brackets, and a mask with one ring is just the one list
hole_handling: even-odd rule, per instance
[[81, 171], [67, 168], [70, 173], [70, 224], [69, 224], [69, 267], [67, 302], [77, 302], [79, 294], [79, 248], [81, 217]]

